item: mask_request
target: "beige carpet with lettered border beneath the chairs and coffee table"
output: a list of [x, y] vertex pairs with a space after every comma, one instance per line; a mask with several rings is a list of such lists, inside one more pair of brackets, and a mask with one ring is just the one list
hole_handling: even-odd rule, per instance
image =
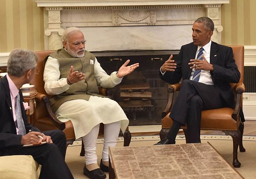
[[[225, 135], [202, 135], [202, 143], [210, 142], [213, 147], [228, 161], [232, 164], [233, 159], [233, 142], [230, 136]], [[123, 145], [123, 139], [120, 138], [117, 146]], [[130, 146], [141, 146], [141, 145], [153, 145], [159, 141], [159, 136], [143, 136], [133, 137]], [[102, 139], [99, 139], [97, 143], [97, 156], [98, 164], [100, 163], [102, 153]], [[185, 144], [185, 138], [183, 135], [178, 135], [176, 144]], [[245, 179], [255, 179], [256, 177], [256, 137], [244, 136], [243, 144], [246, 152], [238, 152], [238, 160], [241, 163], [240, 168], [236, 168], [237, 171], [245, 177]], [[81, 150], [81, 141], [74, 142], [73, 145], [68, 147], [66, 153], [66, 163], [68, 164], [75, 179], [85, 179], [83, 175], [84, 156], [79, 156]], [[238, 150], [239, 151], [239, 150]], [[108, 178], [108, 173], [107, 178]]]

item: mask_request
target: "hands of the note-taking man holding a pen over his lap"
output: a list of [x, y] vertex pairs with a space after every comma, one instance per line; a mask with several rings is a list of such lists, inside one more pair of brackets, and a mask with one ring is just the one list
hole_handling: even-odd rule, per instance
[[[42, 136], [43, 139], [38, 137], [39, 135]], [[21, 137], [21, 144], [22, 145], [37, 144], [37, 143], [41, 143], [41, 142], [44, 142], [44, 141], [46, 141], [47, 143], [52, 143], [51, 137], [48, 136], [48, 135], [44, 135], [41, 132], [35, 132], [35, 131], [29, 132], [28, 134], [23, 135]]]

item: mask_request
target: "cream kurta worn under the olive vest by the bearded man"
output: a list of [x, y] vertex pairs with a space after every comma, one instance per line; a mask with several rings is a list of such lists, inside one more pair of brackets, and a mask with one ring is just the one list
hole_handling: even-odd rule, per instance
[[[59, 67], [58, 60], [49, 56], [44, 68], [44, 88], [49, 95], [61, 94], [70, 87], [66, 78], [60, 79]], [[122, 81], [122, 78], [117, 77], [117, 72], [108, 75], [96, 58], [94, 73], [100, 87], [112, 88]], [[91, 96], [89, 101], [81, 99], [67, 101], [57, 109], [55, 115], [62, 122], [71, 120], [76, 139], [88, 134], [99, 123], [108, 124], [121, 121], [123, 132], [129, 124], [128, 118], [117, 102], [97, 96]]]

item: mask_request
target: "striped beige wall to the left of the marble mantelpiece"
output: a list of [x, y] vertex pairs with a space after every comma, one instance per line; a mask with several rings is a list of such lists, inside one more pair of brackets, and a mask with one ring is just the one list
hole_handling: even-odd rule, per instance
[[34, 0], [0, 0], [0, 52], [44, 50], [44, 9]]

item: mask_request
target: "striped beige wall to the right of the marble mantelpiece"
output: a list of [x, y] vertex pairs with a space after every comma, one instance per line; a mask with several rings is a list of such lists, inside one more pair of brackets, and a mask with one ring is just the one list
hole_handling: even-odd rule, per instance
[[222, 44], [256, 45], [256, 0], [229, 0], [222, 5]]

